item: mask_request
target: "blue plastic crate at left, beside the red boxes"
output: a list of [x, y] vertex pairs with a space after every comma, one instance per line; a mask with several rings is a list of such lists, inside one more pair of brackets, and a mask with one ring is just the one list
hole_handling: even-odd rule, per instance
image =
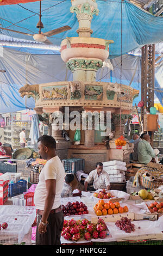
[[8, 197], [17, 196], [27, 191], [27, 180], [19, 180], [16, 183], [9, 183]]

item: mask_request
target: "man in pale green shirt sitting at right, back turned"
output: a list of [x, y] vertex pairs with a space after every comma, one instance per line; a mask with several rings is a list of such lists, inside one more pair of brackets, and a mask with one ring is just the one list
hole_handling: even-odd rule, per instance
[[158, 149], [153, 149], [150, 143], [150, 136], [147, 134], [143, 135], [142, 141], [140, 141], [137, 146], [138, 161], [140, 163], [159, 163], [157, 155], [160, 151]]

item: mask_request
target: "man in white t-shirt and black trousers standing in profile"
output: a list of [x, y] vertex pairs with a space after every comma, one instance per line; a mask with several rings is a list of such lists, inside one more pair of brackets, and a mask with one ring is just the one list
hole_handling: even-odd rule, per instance
[[56, 154], [56, 142], [52, 136], [38, 139], [39, 154], [47, 160], [39, 175], [34, 194], [37, 209], [36, 245], [60, 245], [64, 223], [60, 194], [64, 184], [65, 169]]

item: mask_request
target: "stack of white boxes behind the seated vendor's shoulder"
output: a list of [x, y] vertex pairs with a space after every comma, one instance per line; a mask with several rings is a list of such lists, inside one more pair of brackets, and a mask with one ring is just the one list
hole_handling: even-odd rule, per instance
[[103, 169], [109, 174], [109, 179], [111, 183], [126, 182], [126, 162], [121, 162], [117, 160], [103, 162]]

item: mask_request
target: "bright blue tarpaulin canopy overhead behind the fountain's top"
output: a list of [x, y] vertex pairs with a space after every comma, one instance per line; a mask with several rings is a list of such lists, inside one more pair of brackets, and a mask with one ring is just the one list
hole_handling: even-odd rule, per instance
[[[66, 36], [78, 36], [78, 21], [76, 14], [70, 13], [71, 1], [46, 0], [42, 2], [42, 17], [44, 28], [42, 32], [51, 31], [65, 25], [72, 29], [57, 35], [53, 35], [49, 40], [55, 46], [60, 47], [60, 43]], [[143, 11], [127, 0], [121, 3], [120, 0], [97, 0], [99, 15], [93, 16], [91, 29], [92, 37], [114, 40], [110, 45], [109, 58], [117, 56], [137, 47], [146, 44], [155, 44], [163, 41], [163, 18], [156, 17]], [[39, 2], [26, 4], [2, 5], [0, 8], [0, 22], [4, 28], [13, 29], [24, 33], [38, 33], [36, 24], [39, 21]], [[122, 19], [121, 19], [122, 8]], [[121, 29], [122, 25], [122, 29]], [[122, 32], [122, 44], [121, 44]], [[14, 38], [34, 40], [33, 36], [4, 31], [1, 33]]]

